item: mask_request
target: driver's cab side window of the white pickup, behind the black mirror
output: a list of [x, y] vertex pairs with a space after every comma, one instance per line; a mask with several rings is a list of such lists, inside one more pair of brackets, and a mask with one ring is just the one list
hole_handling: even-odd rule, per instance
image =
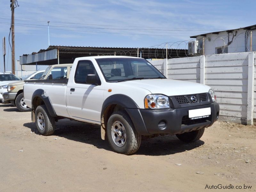
[[86, 83], [87, 75], [97, 75], [96, 70], [91, 61], [79, 61], [76, 68], [76, 83]]

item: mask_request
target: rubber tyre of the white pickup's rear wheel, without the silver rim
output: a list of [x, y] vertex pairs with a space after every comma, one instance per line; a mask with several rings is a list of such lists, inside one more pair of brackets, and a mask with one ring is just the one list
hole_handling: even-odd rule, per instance
[[[38, 114], [41, 113], [44, 117], [45, 126], [43, 129], [40, 128], [38, 122]], [[37, 130], [44, 136], [52, 135], [55, 130], [55, 120], [54, 117], [50, 116], [45, 105], [40, 105], [36, 108], [35, 120]]]

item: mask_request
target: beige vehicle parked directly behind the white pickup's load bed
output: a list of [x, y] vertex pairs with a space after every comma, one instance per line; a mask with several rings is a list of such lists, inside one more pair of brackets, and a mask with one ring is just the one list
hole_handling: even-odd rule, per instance
[[[57, 64], [46, 68], [45, 71], [37, 71], [28, 76], [25, 80], [31, 79], [59, 79], [69, 76], [72, 64]], [[24, 102], [23, 96], [24, 81], [8, 84], [8, 92], [3, 93], [4, 100], [12, 101], [21, 112], [30, 111], [31, 109]]]

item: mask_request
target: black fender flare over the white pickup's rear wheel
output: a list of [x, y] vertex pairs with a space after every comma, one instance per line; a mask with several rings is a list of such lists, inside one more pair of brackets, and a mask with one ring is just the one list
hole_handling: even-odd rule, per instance
[[50, 116], [57, 117], [57, 115], [56, 115], [56, 113], [55, 113], [55, 111], [52, 107], [52, 103], [51, 103], [49, 97], [44, 95], [44, 90], [43, 89], [37, 89], [33, 93], [32, 100], [31, 100], [32, 101], [32, 110], [35, 110], [34, 106], [33, 106], [33, 103], [34, 103], [34, 100], [35, 100], [36, 97], [39, 97], [40, 99], [42, 99], [44, 101], [44, 104], [45, 104]]

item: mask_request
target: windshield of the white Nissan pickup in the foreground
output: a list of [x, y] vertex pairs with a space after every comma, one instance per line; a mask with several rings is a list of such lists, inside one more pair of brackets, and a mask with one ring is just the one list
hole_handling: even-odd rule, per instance
[[139, 58], [96, 59], [107, 82], [165, 78], [151, 63]]

